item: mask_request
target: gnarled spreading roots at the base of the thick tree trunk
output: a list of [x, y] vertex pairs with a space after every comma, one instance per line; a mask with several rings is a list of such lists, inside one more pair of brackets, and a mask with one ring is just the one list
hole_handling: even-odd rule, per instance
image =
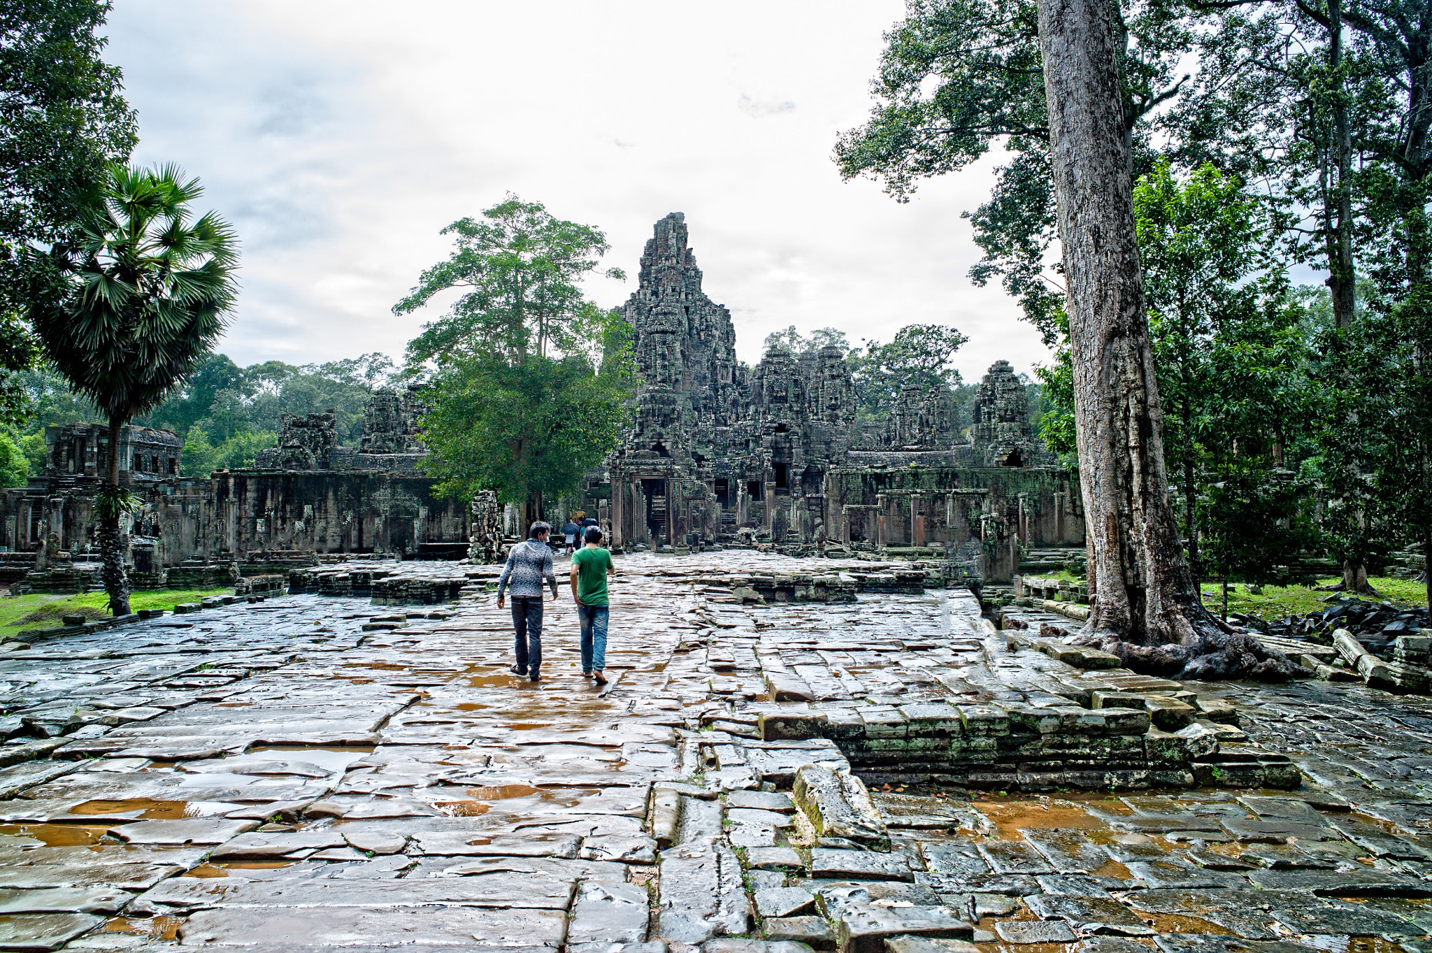
[[[1054, 625], [1047, 628], [1064, 631]], [[1040, 634], [1044, 635], [1042, 628]], [[1293, 678], [1310, 678], [1313, 674], [1283, 653], [1263, 645], [1247, 632], [1226, 632], [1209, 625], [1200, 627], [1191, 645], [1176, 642], [1140, 645], [1124, 641], [1117, 632], [1097, 631], [1081, 631], [1068, 641], [1073, 645], [1088, 645], [1118, 655], [1127, 668], [1143, 675], [1200, 681], [1247, 678], [1250, 681], [1282, 683]]]

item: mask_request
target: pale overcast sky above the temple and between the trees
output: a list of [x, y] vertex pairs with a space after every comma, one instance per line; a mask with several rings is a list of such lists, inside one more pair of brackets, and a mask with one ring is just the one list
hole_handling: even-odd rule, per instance
[[[652, 225], [684, 212], [706, 292], [756, 362], [773, 329], [888, 341], [951, 323], [967, 381], [1045, 361], [998, 288], [975, 288], [961, 212], [988, 165], [899, 205], [842, 183], [901, 0], [490, 3], [115, 0], [107, 57], [143, 163], [179, 162], [242, 239], [239, 363], [402, 353], [391, 306], [445, 258], [438, 232], [507, 192], [603, 229], [594, 279], [636, 288]], [[430, 315], [435, 316], [435, 315]]]

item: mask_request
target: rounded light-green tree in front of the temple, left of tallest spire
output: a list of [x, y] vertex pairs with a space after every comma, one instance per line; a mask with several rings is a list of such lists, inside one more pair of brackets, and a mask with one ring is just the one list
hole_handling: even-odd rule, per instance
[[447, 492], [495, 489], [536, 519], [544, 498], [576, 489], [616, 446], [630, 416], [630, 329], [580, 286], [607, 239], [516, 196], [444, 235], [454, 252], [394, 306], [411, 313], [461, 290], [408, 343], [408, 372], [425, 378], [431, 406], [427, 465]]

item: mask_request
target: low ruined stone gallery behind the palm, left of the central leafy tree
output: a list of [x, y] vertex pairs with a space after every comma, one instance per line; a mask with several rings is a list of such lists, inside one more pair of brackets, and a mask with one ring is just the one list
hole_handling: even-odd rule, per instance
[[[357, 448], [339, 445], [334, 414], [284, 415], [278, 446], [261, 452], [255, 466], [209, 476], [179, 476], [178, 435], [126, 426], [120, 482], [139, 499], [126, 521], [136, 564], [158, 571], [276, 554], [465, 551], [467, 505], [434, 497], [435, 481], [418, 466], [425, 452], [415, 436], [418, 409], [411, 391], [378, 391]], [[24, 489], [0, 491], [0, 545], [24, 554], [47, 541], [82, 558], [95, 545], [107, 429], [52, 426], [46, 442], [44, 472]]]

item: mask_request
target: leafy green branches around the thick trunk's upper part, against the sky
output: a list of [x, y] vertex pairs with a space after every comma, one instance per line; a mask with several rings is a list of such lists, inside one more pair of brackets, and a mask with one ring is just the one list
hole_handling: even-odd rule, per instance
[[[1120, 6], [1128, 36], [1124, 110], [1143, 172], [1157, 107], [1183, 82], [1177, 70], [1191, 24], [1161, 0]], [[998, 278], [1053, 345], [1063, 289], [1050, 262], [1054, 193], [1035, 3], [906, 0], [905, 9], [885, 34], [869, 120], [836, 143], [841, 176], [876, 179], [904, 202], [922, 179], [964, 169], [1001, 145], [1010, 160], [995, 170], [990, 200], [965, 213], [984, 250], [969, 275], [979, 285]], [[1176, 130], [1160, 123], [1158, 132]]]

